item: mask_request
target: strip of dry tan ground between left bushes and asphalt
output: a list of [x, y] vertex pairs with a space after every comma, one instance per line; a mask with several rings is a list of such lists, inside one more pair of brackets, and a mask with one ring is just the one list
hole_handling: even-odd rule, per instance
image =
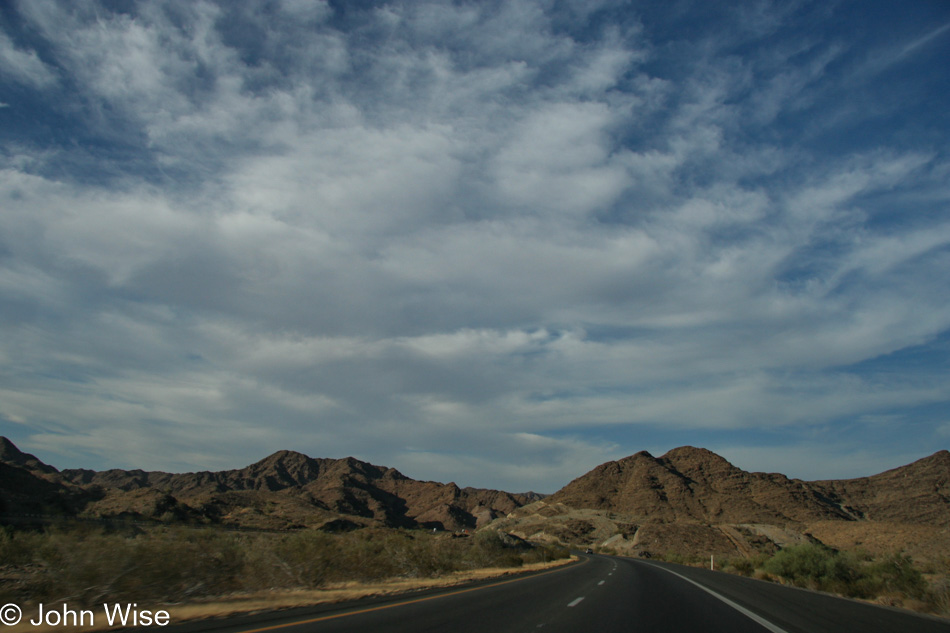
[[[513, 576], [524, 572], [549, 569], [565, 565], [577, 560], [576, 556], [569, 559], [561, 559], [550, 563], [534, 563], [518, 568], [489, 568], [473, 569], [470, 571], [461, 571], [443, 576], [440, 578], [393, 578], [378, 583], [340, 583], [329, 585], [324, 589], [296, 590], [296, 591], [259, 591], [247, 594], [236, 594], [222, 596], [218, 598], [202, 600], [188, 604], [175, 605], [138, 605], [141, 609], [149, 609], [152, 613], [164, 610], [169, 615], [169, 625], [181, 624], [182, 622], [192, 620], [202, 620], [208, 618], [223, 618], [238, 614], [261, 613], [265, 611], [276, 611], [280, 609], [291, 609], [295, 607], [307, 607], [317, 604], [326, 604], [333, 602], [346, 602], [357, 600], [359, 598], [368, 598], [371, 596], [386, 596], [418, 591], [420, 589], [431, 589], [436, 587], [453, 587], [463, 585], [475, 580], [484, 580], [488, 578], [501, 578], [504, 576]], [[53, 607], [51, 607], [53, 608]], [[75, 607], [71, 607], [74, 608]], [[61, 607], [56, 607], [60, 610]], [[77, 609], [78, 610], [78, 609]], [[118, 628], [121, 626], [110, 627], [106, 620], [102, 606], [96, 606], [92, 609], [94, 625], [76, 626], [70, 621], [67, 625], [33, 626], [28, 620], [36, 617], [35, 607], [27, 609], [23, 614], [23, 619], [16, 626], [5, 626], [5, 633], [81, 633], [86, 631], [103, 631]], [[88, 621], [88, 618], [87, 618]]]

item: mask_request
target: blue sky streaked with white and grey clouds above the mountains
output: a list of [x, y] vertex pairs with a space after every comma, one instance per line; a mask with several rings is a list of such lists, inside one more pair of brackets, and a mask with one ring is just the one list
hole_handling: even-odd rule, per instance
[[950, 4], [0, 3], [0, 434], [554, 492], [950, 447]]

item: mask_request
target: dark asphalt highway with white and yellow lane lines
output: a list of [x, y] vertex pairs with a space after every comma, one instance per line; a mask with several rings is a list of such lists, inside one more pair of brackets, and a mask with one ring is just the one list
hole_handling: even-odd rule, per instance
[[575, 565], [463, 588], [174, 628], [180, 633], [950, 633], [950, 620], [681, 565], [584, 556]]

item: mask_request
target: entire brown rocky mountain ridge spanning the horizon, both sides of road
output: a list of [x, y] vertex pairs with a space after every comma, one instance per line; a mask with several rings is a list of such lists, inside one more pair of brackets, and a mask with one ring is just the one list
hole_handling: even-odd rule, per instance
[[[58, 471], [0, 438], [0, 514], [5, 515], [261, 529], [387, 525], [458, 530], [496, 521], [524, 537], [560, 534], [563, 542], [593, 541], [590, 535], [596, 532], [639, 543], [651, 525], [676, 525], [693, 535], [683, 536], [689, 540], [704, 534], [703, 526], [719, 526], [718, 542], [730, 547], [731, 542], [740, 551], [736, 529], [758, 530], [775, 543], [782, 542], [782, 534], [800, 536], [818, 524], [878, 522], [946, 530], [950, 452], [869, 477], [802, 481], [747, 472], [712, 451], [685, 446], [661, 457], [641, 451], [601, 464], [539, 498], [416, 481], [352, 457], [311, 458], [294, 451], [218, 472]], [[578, 512], [590, 516], [577, 519]], [[671, 529], [660, 533], [676, 531]]]

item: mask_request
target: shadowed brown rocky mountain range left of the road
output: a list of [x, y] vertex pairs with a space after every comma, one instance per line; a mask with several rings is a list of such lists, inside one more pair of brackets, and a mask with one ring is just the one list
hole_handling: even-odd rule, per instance
[[457, 530], [532, 501], [410, 479], [352, 457], [279, 451], [237, 470], [57, 471], [0, 438], [0, 513], [219, 523], [264, 529], [361, 525]]

